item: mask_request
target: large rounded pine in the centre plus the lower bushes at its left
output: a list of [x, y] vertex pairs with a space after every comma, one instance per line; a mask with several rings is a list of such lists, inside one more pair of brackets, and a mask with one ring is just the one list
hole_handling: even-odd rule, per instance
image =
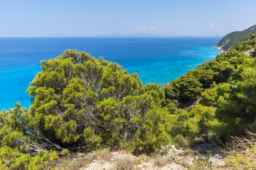
[[68, 150], [109, 146], [150, 153], [170, 144], [177, 118], [161, 108], [161, 86], [144, 85], [119, 64], [75, 50], [41, 67], [28, 89], [30, 111], [16, 103], [0, 113], [2, 167], [50, 167]]

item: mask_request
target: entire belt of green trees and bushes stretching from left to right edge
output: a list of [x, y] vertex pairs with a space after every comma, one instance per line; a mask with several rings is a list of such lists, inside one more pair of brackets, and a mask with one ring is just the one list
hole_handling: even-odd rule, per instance
[[29, 111], [16, 103], [0, 112], [1, 168], [53, 169], [77, 152], [152, 154], [256, 132], [255, 37], [164, 88], [86, 52], [42, 61], [27, 91]]

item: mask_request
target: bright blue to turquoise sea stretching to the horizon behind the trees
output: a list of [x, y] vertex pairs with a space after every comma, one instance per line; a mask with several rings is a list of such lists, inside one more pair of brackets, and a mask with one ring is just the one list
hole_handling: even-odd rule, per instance
[[144, 83], [166, 84], [220, 52], [220, 38], [0, 38], [0, 110], [14, 101], [28, 108], [29, 82], [41, 71], [40, 61], [66, 49], [118, 62]]

